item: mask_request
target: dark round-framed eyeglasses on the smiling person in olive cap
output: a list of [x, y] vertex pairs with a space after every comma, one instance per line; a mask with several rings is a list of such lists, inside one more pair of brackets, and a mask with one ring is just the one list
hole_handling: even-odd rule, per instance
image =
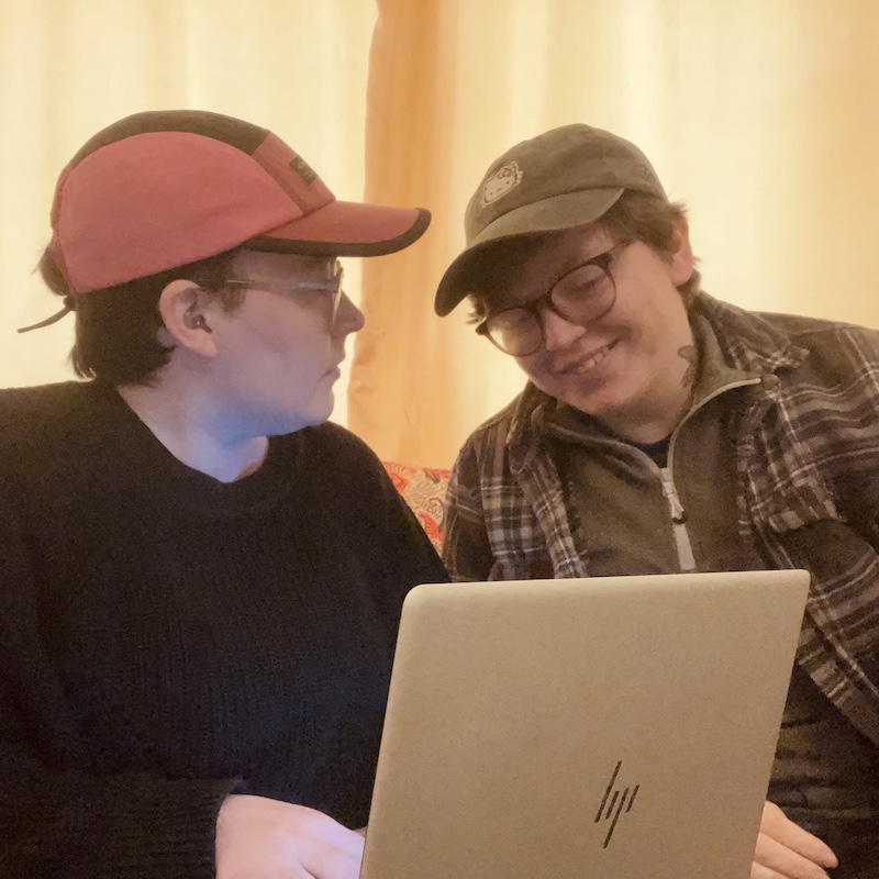
[[585, 326], [607, 314], [616, 302], [611, 263], [634, 238], [617, 242], [603, 254], [579, 263], [556, 278], [549, 289], [531, 302], [504, 309], [486, 318], [476, 332], [513, 357], [527, 357], [543, 345], [546, 330], [543, 310], [569, 323]]

